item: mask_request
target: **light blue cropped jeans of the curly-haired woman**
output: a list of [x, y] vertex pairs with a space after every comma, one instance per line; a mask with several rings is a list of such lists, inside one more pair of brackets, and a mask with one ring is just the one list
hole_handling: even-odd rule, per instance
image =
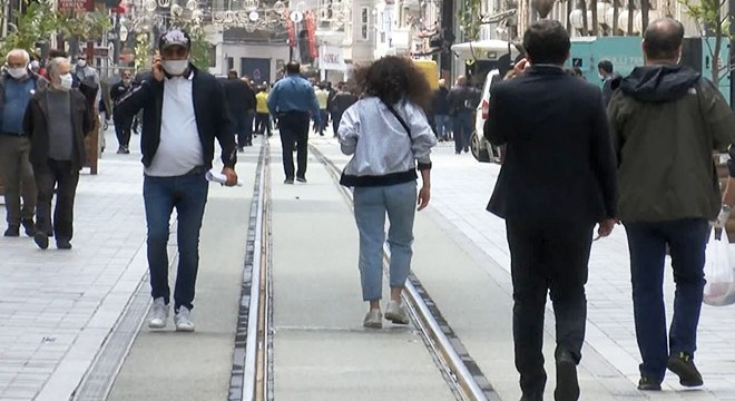
[[363, 301], [378, 301], [383, 290], [385, 215], [390, 223], [391, 287], [402, 287], [411, 271], [416, 183], [354, 189], [355, 222], [360, 231], [360, 277]]

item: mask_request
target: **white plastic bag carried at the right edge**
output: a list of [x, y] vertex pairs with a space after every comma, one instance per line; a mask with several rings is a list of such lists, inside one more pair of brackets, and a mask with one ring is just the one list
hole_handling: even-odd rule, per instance
[[735, 303], [735, 271], [729, 263], [729, 241], [723, 231], [722, 237], [709, 234], [705, 260], [704, 303], [712, 306], [725, 306]]

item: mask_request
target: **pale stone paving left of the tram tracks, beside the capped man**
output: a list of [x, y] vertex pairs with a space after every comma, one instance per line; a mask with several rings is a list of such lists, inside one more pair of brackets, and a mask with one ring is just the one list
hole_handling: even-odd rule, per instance
[[139, 166], [138, 156], [108, 148], [98, 175], [82, 170], [74, 250], [0, 238], [0, 399], [29, 400], [45, 387], [56, 400], [69, 394], [140, 283], [147, 266]]

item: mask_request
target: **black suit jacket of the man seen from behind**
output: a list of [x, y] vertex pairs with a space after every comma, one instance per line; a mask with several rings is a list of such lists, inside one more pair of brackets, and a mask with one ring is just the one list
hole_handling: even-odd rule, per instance
[[561, 68], [531, 67], [492, 87], [484, 137], [507, 144], [489, 212], [517, 221], [616, 217], [616, 163], [598, 87]]

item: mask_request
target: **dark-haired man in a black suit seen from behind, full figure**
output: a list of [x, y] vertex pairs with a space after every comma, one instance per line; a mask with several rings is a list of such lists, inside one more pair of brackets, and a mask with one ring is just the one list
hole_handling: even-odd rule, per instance
[[516, 79], [492, 87], [484, 136], [507, 145], [488, 211], [503, 217], [513, 283], [513, 341], [522, 401], [542, 400], [543, 311], [557, 323], [557, 401], [578, 400], [592, 243], [612, 231], [616, 164], [601, 91], [565, 74], [569, 36], [541, 20], [523, 36]]

